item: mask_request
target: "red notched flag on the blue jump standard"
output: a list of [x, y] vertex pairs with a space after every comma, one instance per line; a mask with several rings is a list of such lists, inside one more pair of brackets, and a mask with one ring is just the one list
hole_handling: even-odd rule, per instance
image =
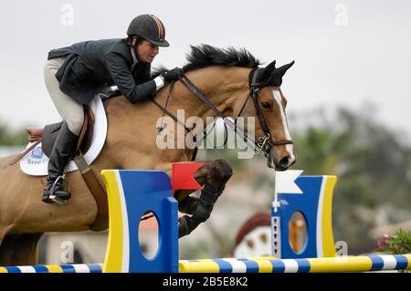
[[203, 163], [174, 162], [172, 165], [172, 187], [174, 190], [198, 190], [203, 187], [193, 178], [193, 174]]

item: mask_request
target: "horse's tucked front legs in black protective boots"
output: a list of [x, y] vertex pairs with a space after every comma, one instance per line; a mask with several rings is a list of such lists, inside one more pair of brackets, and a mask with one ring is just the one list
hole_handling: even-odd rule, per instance
[[216, 200], [224, 191], [227, 181], [233, 175], [233, 170], [226, 160], [202, 161], [203, 165], [195, 171], [195, 181], [204, 188], [200, 196], [188, 195], [188, 192], [176, 192], [178, 210], [184, 215], [178, 220], [178, 236], [190, 234], [200, 223], [210, 217]]

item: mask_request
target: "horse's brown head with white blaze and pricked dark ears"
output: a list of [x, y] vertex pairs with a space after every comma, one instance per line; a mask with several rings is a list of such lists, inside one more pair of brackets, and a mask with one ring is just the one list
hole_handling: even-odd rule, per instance
[[279, 87], [294, 61], [280, 68], [275, 68], [275, 64], [276, 61], [273, 61], [266, 68], [256, 68], [250, 72], [249, 96], [246, 100], [238, 100], [237, 114], [256, 117], [257, 148], [264, 151], [269, 168], [285, 171], [296, 161], [296, 155], [285, 113], [287, 99]]

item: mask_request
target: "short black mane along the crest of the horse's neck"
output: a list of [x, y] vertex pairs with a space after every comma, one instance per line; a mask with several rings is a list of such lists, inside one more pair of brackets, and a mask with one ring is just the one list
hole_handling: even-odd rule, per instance
[[[184, 66], [184, 72], [208, 66], [256, 68], [261, 64], [259, 60], [251, 55], [245, 48], [236, 49], [234, 47], [228, 47], [224, 49], [209, 45], [190, 47], [191, 53], [186, 55], [188, 64]], [[167, 68], [154, 68], [152, 77], [155, 78], [159, 76], [165, 70], [167, 70]]]

